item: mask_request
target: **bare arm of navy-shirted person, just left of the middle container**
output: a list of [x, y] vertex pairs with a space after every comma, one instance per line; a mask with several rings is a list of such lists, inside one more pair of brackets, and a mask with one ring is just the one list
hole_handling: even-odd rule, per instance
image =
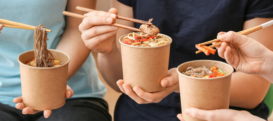
[[[117, 1], [112, 1], [113, 7], [119, 10], [119, 15], [133, 18], [133, 9], [126, 5], [123, 5]], [[117, 13], [116, 13], [117, 14]], [[116, 20], [117, 23], [122, 23], [126, 26], [134, 26], [133, 22]], [[104, 80], [108, 85], [118, 92], [121, 92], [117, 86], [117, 81], [123, 79], [122, 74], [122, 62], [121, 62], [121, 52], [119, 38], [124, 35], [132, 32], [127, 29], [119, 29], [117, 35], [113, 38], [115, 39], [115, 44], [113, 44], [113, 51], [111, 53], [98, 53], [98, 69], [103, 76]]]

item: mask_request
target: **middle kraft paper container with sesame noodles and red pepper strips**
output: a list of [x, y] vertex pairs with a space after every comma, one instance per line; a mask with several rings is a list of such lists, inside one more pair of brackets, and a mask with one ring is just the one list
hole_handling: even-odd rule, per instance
[[170, 40], [170, 43], [156, 47], [132, 46], [122, 42], [122, 68], [123, 80], [133, 89], [140, 87], [146, 92], [156, 92], [164, 89], [160, 81], [168, 76], [170, 44], [172, 38], [161, 34]]

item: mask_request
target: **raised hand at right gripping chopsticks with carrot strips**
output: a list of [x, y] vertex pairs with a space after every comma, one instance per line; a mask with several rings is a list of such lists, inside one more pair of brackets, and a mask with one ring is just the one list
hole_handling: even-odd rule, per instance
[[223, 43], [218, 49], [220, 57], [225, 58], [237, 71], [260, 75], [271, 83], [272, 78], [266, 76], [273, 68], [272, 51], [261, 43], [244, 35], [229, 31], [220, 32], [217, 36]]

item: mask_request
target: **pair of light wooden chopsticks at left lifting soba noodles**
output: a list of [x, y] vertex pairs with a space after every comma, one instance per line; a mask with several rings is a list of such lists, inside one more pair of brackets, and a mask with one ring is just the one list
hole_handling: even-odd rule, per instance
[[[9, 28], [18, 28], [18, 29], [29, 29], [29, 30], [34, 30], [35, 26], [27, 25], [27, 24], [22, 24], [14, 21], [9, 21], [5, 19], [0, 19], [0, 24], [2, 24], [4, 27], [9, 27]], [[51, 32], [49, 29], [45, 29], [47, 32]]]

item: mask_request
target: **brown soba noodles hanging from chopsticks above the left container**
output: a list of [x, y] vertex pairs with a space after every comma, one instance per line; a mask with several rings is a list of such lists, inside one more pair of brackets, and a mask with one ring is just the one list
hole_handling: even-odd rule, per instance
[[34, 29], [34, 54], [36, 67], [54, 67], [54, 57], [47, 50], [46, 45], [47, 32], [42, 25], [36, 26]]

